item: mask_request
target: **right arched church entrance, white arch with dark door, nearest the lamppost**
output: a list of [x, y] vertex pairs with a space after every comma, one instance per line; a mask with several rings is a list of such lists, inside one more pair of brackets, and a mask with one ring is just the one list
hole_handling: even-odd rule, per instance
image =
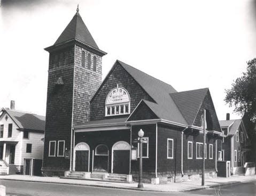
[[129, 174], [130, 170], [130, 145], [119, 141], [112, 147], [111, 172], [115, 174]]

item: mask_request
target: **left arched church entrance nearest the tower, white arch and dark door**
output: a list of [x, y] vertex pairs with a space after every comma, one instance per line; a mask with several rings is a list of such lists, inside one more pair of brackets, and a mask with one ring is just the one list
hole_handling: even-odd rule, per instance
[[90, 147], [87, 143], [76, 144], [74, 149], [74, 171], [89, 171]]

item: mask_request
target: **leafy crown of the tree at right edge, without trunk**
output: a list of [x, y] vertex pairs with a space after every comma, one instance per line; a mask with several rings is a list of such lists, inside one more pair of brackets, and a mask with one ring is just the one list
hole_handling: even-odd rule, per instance
[[226, 90], [224, 99], [234, 111], [246, 114], [252, 123], [256, 123], [256, 58], [247, 62], [246, 72], [237, 78], [232, 87]]

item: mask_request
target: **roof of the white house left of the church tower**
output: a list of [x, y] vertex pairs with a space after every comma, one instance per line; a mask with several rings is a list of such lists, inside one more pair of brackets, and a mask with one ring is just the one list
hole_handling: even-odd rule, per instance
[[[6, 113], [12, 118], [15, 124], [20, 129], [28, 129], [28, 130], [45, 130], [45, 117], [40, 115], [35, 115], [34, 113], [18, 111], [18, 110], [10, 110], [3, 108], [2, 110], [6, 111]], [[2, 113], [3, 114], [3, 113]]]

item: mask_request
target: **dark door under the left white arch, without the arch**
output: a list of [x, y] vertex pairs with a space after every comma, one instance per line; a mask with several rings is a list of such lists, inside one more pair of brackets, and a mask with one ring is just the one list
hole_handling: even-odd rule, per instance
[[88, 171], [88, 150], [75, 151], [75, 171]]

